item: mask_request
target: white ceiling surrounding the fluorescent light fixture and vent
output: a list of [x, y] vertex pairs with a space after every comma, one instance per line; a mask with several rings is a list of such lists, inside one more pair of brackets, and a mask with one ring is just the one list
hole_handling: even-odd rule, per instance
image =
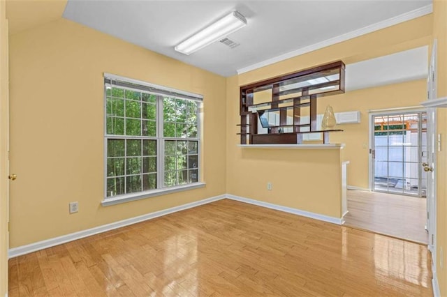
[[[129, 1], [68, 0], [64, 17], [223, 76], [235, 75], [408, 20], [430, 10], [432, 0], [351, 1]], [[189, 56], [174, 46], [232, 10], [247, 26]], [[411, 12], [411, 13], [409, 13]], [[340, 39], [341, 38], [341, 39]], [[332, 40], [332, 41], [330, 41]]]

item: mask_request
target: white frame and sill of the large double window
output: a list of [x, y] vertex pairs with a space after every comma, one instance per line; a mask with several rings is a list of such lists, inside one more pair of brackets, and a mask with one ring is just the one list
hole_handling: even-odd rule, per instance
[[[105, 80], [108, 80], [110, 83], [105, 82]], [[143, 87], [142, 89], [132, 89], [130, 87], [122, 86], [117, 84], [117, 82], [123, 82], [123, 83], [129, 83], [129, 84], [136, 84], [139, 87]], [[108, 86], [115, 86], [119, 87], [121, 89], [129, 89], [132, 91], [140, 91], [145, 93], [151, 93], [156, 95], [156, 136], [155, 137], [144, 137], [145, 139], [156, 139], [156, 158], [157, 158], [157, 164], [156, 164], [156, 189], [154, 190], [147, 190], [142, 192], [134, 192], [124, 195], [118, 195], [114, 197], [107, 197], [107, 141], [110, 138], [122, 138], [122, 139], [132, 139], [132, 136], [130, 135], [122, 135], [122, 136], [113, 136], [107, 134], [107, 114], [106, 114], [106, 108], [107, 108], [107, 87]], [[194, 100], [196, 102], [199, 102], [198, 104], [198, 129], [197, 129], [197, 138], [182, 138], [182, 137], [164, 137], [163, 135], [163, 107], [161, 106], [161, 102], [163, 102], [163, 98], [170, 97], [170, 98], [179, 98], [179, 99], [186, 99], [186, 100]], [[131, 79], [128, 77], [122, 77], [119, 75], [112, 75], [110, 73], [104, 73], [104, 96], [103, 96], [103, 112], [104, 112], [104, 152], [103, 152], [103, 158], [104, 158], [104, 171], [103, 171], [103, 201], [101, 201], [101, 204], [103, 206], [110, 206], [114, 204], [120, 204], [127, 201], [133, 201], [138, 199], [145, 199], [148, 197], [154, 197], [159, 195], [166, 195], [173, 192], [180, 192], [184, 190], [191, 190], [195, 188], [203, 188], [205, 187], [206, 183], [203, 182], [203, 176], [201, 171], [201, 116], [200, 116], [200, 110], [202, 110], [202, 104], [203, 104], [203, 96], [196, 94], [196, 93], [190, 93], [186, 91], [181, 91], [173, 88], [169, 88], [166, 86], [159, 86], [156, 84], [150, 84], [148, 82], [143, 82], [137, 79]], [[138, 138], [140, 139], [140, 138]], [[194, 183], [188, 183], [185, 185], [175, 185], [170, 187], [164, 187], [164, 178], [165, 178], [165, 171], [164, 171], [164, 144], [166, 140], [180, 140], [180, 141], [195, 141], [198, 142], [198, 181]]]

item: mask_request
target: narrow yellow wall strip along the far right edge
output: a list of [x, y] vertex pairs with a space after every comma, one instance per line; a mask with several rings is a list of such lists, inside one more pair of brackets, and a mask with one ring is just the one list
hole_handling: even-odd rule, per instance
[[[447, 96], [447, 1], [433, 1], [433, 36], [438, 40], [437, 96]], [[437, 278], [441, 296], [447, 296], [447, 111], [437, 109], [437, 133], [441, 134], [442, 151], [437, 153]], [[441, 250], [443, 252], [441, 253]], [[442, 262], [442, 267], [441, 267]]]

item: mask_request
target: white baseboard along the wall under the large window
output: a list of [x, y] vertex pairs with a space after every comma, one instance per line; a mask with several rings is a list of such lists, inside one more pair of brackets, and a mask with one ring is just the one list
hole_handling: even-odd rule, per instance
[[162, 211], [156, 211], [154, 213], [147, 213], [145, 215], [140, 215], [135, 218], [129, 218], [119, 222], [112, 222], [110, 224], [104, 224], [102, 226], [94, 227], [87, 230], [78, 231], [71, 234], [66, 234], [63, 236], [50, 238], [45, 241], [38, 241], [36, 243], [31, 243], [29, 245], [22, 245], [17, 248], [11, 248], [8, 250], [8, 258], [13, 258], [20, 256], [22, 254], [29, 254], [30, 252], [36, 252], [37, 250], [43, 250], [45, 248], [51, 248], [54, 245], [60, 245], [62, 243], [68, 243], [68, 241], [75, 241], [76, 239], [84, 238], [94, 234], [99, 234], [105, 231], [110, 231], [113, 229], [118, 229], [120, 227], [128, 226], [129, 224], [135, 224], [138, 222], [143, 222], [145, 220], [151, 220], [154, 218], [161, 217], [162, 215], [168, 215], [170, 213], [176, 213], [177, 211], [184, 211], [188, 208], [193, 208], [203, 204], [208, 204], [217, 200], [225, 199], [226, 195], [219, 195], [216, 197], [211, 197], [208, 199], [203, 199], [200, 201], [191, 202], [188, 204], [183, 204], [180, 206], [175, 206], [172, 208], [163, 209]]

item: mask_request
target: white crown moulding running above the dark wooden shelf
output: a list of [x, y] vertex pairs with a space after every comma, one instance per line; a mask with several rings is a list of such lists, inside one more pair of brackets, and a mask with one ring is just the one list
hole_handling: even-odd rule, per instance
[[272, 59], [267, 59], [265, 61], [261, 61], [259, 63], [254, 63], [253, 65], [237, 69], [237, 74], [240, 75], [242, 73], [247, 73], [251, 70], [255, 70], [264, 66], [268, 66], [280, 61], [284, 61], [286, 59], [293, 58], [294, 56], [300, 56], [301, 54], [306, 54], [308, 52], [313, 52], [314, 50], [320, 50], [323, 47], [328, 47], [330, 45], [335, 45], [336, 43], [342, 43], [343, 41], [356, 38], [358, 36], [365, 35], [367, 33], [372, 33], [374, 31], [379, 31], [381, 29], [388, 28], [389, 26], [394, 26], [395, 24], [400, 24], [402, 22], [406, 22], [409, 20], [416, 19], [417, 17], [422, 17], [424, 15], [428, 15], [433, 12], [433, 5], [427, 5], [415, 10], [411, 10], [408, 13], [403, 13], [402, 15], [397, 15], [395, 17], [391, 17], [388, 20], [384, 20], [382, 22], [378, 22], [376, 24], [371, 24], [369, 26], [365, 26], [361, 29], [357, 29], [348, 33], [344, 33], [342, 35], [336, 36], [334, 38], [329, 38], [327, 40], [323, 40], [319, 43], [314, 43], [313, 45], [308, 45], [307, 47], [302, 47], [298, 50], [294, 50], [292, 52], [288, 52], [286, 54], [281, 54], [280, 56], [275, 56]]

